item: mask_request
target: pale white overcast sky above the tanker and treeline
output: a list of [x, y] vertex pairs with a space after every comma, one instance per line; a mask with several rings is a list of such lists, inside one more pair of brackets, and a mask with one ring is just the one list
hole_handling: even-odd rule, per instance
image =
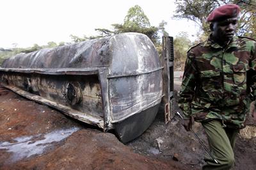
[[71, 42], [70, 35], [97, 35], [95, 28], [111, 29], [111, 24], [122, 24], [129, 8], [136, 4], [152, 26], [165, 20], [170, 36], [186, 31], [193, 40], [198, 29], [195, 24], [172, 19], [174, 0], [1, 0], [0, 47]]

